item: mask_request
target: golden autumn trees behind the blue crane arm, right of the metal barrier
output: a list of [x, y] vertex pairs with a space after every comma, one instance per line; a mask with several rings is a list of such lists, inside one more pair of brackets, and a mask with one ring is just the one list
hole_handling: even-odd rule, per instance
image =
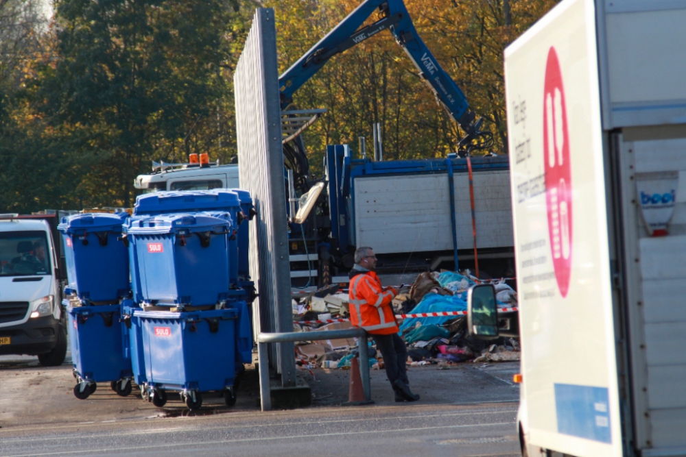
[[[358, 0], [274, 0], [279, 69], [285, 71], [359, 5]], [[503, 51], [554, 0], [406, 0], [414, 24], [470, 106], [507, 153]], [[375, 21], [372, 15], [369, 21]], [[381, 123], [384, 158], [444, 157], [462, 136], [388, 32], [335, 55], [294, 96], [300, 108], [327, 108], [305, 133], [315, 170], [326, 145], [371, 136]]]

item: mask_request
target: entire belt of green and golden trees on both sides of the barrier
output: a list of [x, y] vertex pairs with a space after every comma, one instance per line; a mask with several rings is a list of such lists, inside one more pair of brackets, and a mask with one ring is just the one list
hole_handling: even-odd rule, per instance
[[[255, 8], [276, 11], [285, 71], [362, 0], [56, 0], [49, 27], [37, 1], [0, 0], [0, 212], [130, 206], [150, 160], [228, 162], [233, 70]], [[555, 0], [510, 0], [508, 14], [504, 2], [405, 0], [499, 153], [502, 51]], [[305, 132], [315, 174], [327, 145], [356, 150], [372, 123], [386, 159], [445, 156], [460, 138], [387, 32], [336, 55], [294, 101], [328, 110]]]

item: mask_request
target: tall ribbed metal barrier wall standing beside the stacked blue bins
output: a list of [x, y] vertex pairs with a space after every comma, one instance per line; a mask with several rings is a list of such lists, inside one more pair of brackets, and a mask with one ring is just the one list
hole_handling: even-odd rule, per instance
[[[238, 170], [257, 216], [250, 224], [250, 277], [256, 332], [292, 332], [281, 107], [274, 10], [258, 8], [233, 77]], [[295, 385], [293, 343], [272, 343], [270, 364], [283, 386]], [[260, 367], [262, 369], [262, 367]]]

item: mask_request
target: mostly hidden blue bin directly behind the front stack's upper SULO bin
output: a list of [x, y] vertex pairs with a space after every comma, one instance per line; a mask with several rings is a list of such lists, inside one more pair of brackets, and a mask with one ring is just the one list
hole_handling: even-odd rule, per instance
[[[178, 212], [208, 212], [214, 217], [226, 219], [238, 230], [242, 219], [241, 200], [237, 193], [228, 189], [177, 190], [139, 195], [134, 207], [134, 215], [174, 214]], [[229, 236], [229, 280], [238, 284], [238, 241]]]

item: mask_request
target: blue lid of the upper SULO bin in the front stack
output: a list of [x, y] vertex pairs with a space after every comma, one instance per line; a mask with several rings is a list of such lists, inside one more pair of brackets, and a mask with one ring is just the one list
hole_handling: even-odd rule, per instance
[[146, 218], [132, 218], [125, 227], [125, 232], [132, 235], [184, 234], [196, 232], [222, 233], [230, 229], [225, 219], [212, 217], [209, 214], [160, 214]]

